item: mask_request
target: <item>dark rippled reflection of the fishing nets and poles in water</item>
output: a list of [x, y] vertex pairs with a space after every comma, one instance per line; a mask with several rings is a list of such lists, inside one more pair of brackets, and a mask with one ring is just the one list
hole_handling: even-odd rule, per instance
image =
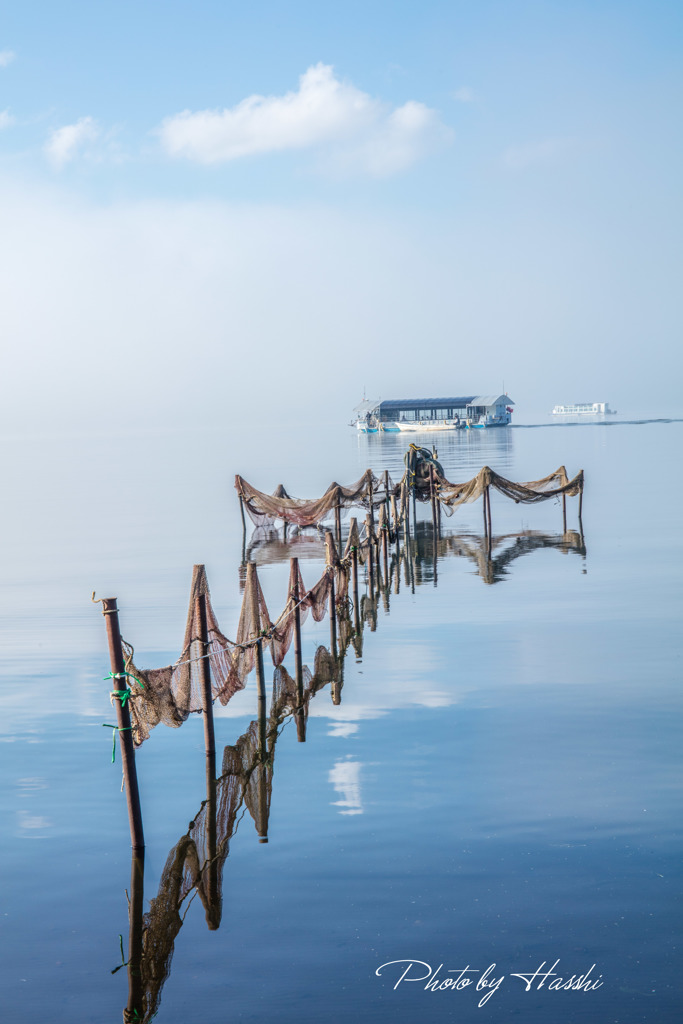
[[[326, 610], [329, 596], [326, 581], [330, 575], [334, 577], [339, 588], [336, 613], [340, 656], [337, 658], [326, 647], [318, 647], [313, 673], [304, 667], [299, 689], [282, 664], [275, 669], [266, 729], [265, 757], [262, 757], [259, 751], [258, 722], [252, 722], [233, 745], [225, 748], [221, 774], [217, 780], [212, 778], [209, 782], [207, 800], [190, 822], [187, 833], [178, 840], [169, 853], [158, 895], [151, 901], [147, 913], [141, 918], [139, 964], [141, 994], [136, 1004], [138, 1011], [141, 1011], [141, 1017], [130, 1017], [130, 1020], [150, 1020], [158, 1011], [162, 987], [171, 969], [175, 939], [182, 927], [187, 907], [196, 896], [199, 895], [203, 904], [208, 927], [211, 929], [219, 927], [222, 915], [223, 867], [229, 852], [229, 842], [244, 813], [251, 816], [257, 835], [262, 841], [266, 841], [274, 745], [281, 725], [288, 717], [293, 716], [297, 720], [297, 731], [299, 732], [301, 728], [305, 737], [309, 701], [328, 683], [331, 684], [333, 702], [340, 702], [344, 655], [349, 646], [353, 647], [356, 655], [360, 655], [364, 625], [370, 626], [371, 631], [377, 628], [379, 602], [382, 600], [385, 609], [388, 610], [389, 592], [392, 588], [398, 592], [401, 571], [407, 586], [420, 585], [426, 582], [424, 569], [430, 560], [433, 562], [435, 558], [449, 556], [466, 557], [476, 564], [484, 582], [497, 583], [503, 579], [507, 567], [516, 558], [541, 548], [554, 548], [565, 553], [586, 553], [583, 536], [573, 531], [564, 535], [546, 535], [526, 530], [493, 538], [489, 546], [488, 539], [478, 535], [458, 534], [440, 537], [427, 523], [421, 523], [419, 527], [415, 536], [410, 538], [409, 544], [396, 551], [392, 549], [386, 573], [382, 568], [382, 560], [377, 560], [376, 587], [360, 595], [357, 608], [352, 609], [348, 599], [348, 563], [344, 564], [344, 560], [339, 559], [336, 553], [332, 556], [335, 571], [324, 574], [316, 596], [310, 596], [312, 592], [310, 594], [305, 592], [298, 564], [292, 564], [288, 602], [280, 620], [279, 637], [272, 644], [273, 659], [279, 658], [282, 662], [291, 643], [295, 595], [306, 594], [308, 603], [304, 612], [310, 609], [314, 617], [319, 621]], [[352, 526], [346, 544], [346, 558], [349, 550], [355, 545], [361, 553], [364, 548], [367, 548], [367, 538], [361, 537], [357, 528]], [[206, 587], [206, 578], [201, 573], [194, 580], [194, 594], [197, 586]], [[262, 601], [260, 589], [257, 603], [259, 618], [264, 616], [264, 621], [269, 622], [267, 609], [263, 610], [265, 602]], [[249, 635], [249, 632], [255, 629], [255, 624], [245, 610], [251, 606], [253, 602], [245, 600], [244, 621], [241, 618], [241, 629], [245, 631], [245, 635]], [[209, 618], [209, 622], [214, 620]], [[190, 643], [191, 628], [190, 615], [185, 633], [185, 640], [189, 638]], [[278, 647], [279, 643], [282, 649]], [[144, 678], [148, 680], [150, 675], [145, 674]], [[301, 733], [300, 738], [302, 738]]]

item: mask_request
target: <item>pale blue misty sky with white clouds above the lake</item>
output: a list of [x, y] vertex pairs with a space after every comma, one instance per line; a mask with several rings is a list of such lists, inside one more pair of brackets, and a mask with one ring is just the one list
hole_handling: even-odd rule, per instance
[[530, 418], [680, 413], [682, 23], [600, 0], [15, 5], [3, 429], [86, 420], [131, 371], [216, 422], [188, 349], [212, 378], [258, 352], [275, 418], [290, 377], [334, 422], [362, 384], [439, 390], [435, 367], [450, 393], [505, 380]]

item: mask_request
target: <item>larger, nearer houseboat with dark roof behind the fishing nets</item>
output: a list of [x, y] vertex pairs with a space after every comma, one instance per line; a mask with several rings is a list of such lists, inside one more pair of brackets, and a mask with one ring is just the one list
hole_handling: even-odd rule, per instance
[[510, 423], [513, 406], [514, 401], [507, 394], [458, 398], [364, 398], [353, 410], [351, 426], [364, 434], [506, 427]]

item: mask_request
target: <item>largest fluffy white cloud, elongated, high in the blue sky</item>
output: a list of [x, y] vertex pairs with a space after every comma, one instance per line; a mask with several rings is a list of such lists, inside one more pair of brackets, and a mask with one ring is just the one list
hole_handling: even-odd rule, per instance
[[339, 166], [376, 176], [408, 167], [450, 137], [436, 113], [410, 100], [394, 110], [318, 63], [297, 92], [253, 95], [223, 111], [183, 111], [159, 129], [169, 156], [202, 164], [288, 150], [325, 148]]

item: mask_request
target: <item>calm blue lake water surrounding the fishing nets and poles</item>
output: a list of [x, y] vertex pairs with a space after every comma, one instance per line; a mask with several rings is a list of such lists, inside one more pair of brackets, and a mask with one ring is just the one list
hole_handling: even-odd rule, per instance
[[[479, 504], [443, 520], [435, 564], [422, 507], [415, 587], [401, 575], [379, 602], [361, 656], [347, 652], [341, 702], [329, 687], [311, 699], [306, 742], [291, 720], [283, 728], [267, 844], [240, 810], [220, 927], [190, 895], [166, 958], [150, 953], [147, 971], [168, 971], [160, 1022], [681, 1019], [683, 495], [672, 467], [683, 424], [432, 440], [453, 480], [484, 464], [515, 480], [585, 469], [583, 542], [562, 542], [558, 503], [494, 494], [493, 564]], [[140, 667], [166, 665], [182, 643], [191, 566], [205, 562], [233, 637], [233, 474], [314, 497], [368, 466], [398, 478], [405, 446], [344, 428], [239, 442], [200, 431], [3, 442], [5, 1020], [121, 1020], [128, 997], [126, 967], [112, 972], [120, 935], [128, 955], [129, 834], [90, 593], [119, 598]], [[577, 529], [575, 499], [567, 519]], [[299, 550], [311, 586], [319, 554]], [[254, 549], [274, 616], [288, 565], [273, 554]], [[309, 618], [304, 662], [312, 668], [328, 642], [328, 620]], [[251, 676], [217, 711], [219, 764], [255, 713]], [[160, 726], [137, 764], [147, 911], [206, 798], [201, 717]], [[441, 965], [437, 983], [465, 969], [476, 982], [494, 964], [487, 980], [503, 981], [481, 1007], [490, 988], [410, 980]], [[555, 974], [527, 991], [514, 975], [543, 964]], [[549, 988], [593, 965], [601, 987]]]

